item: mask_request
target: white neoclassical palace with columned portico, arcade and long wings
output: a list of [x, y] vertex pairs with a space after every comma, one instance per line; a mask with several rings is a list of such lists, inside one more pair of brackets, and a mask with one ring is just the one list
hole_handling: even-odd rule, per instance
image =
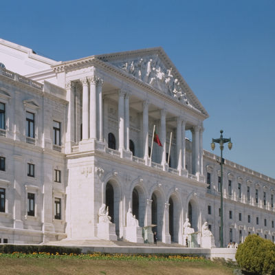
[[208, 116], [161, 47], [56, 62], [0, 40], [1, 243], [93, 239], [105, 203], [118, 237], [132, 208], [159, 241], [189, 218], [219, 246], [221, 192], [225, 244], [274, 241], [275, 179], [225, 159], [220, 190]]

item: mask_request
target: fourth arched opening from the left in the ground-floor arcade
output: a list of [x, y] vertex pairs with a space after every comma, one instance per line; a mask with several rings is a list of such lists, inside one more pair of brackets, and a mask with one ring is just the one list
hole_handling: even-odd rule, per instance
[[181, 236], [181, 200], [177, 192], [169, 192], [169, 234], [171, 241], [179, 243]]

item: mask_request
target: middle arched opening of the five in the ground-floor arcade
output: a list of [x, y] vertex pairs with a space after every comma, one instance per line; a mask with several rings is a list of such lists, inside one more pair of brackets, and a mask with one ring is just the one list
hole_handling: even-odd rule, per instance
[[157, 226], [153, 232], [157, 232], [157, 239], [162, 241], [162, 232], [164, 227], [164, 193], [161, 188], [151, 188], [151, 223]]

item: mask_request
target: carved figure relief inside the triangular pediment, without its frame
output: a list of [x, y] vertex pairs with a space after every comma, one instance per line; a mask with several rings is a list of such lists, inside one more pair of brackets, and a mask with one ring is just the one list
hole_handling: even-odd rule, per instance
[[126, 74], [131, 74], [144, 83], [160, 89], [164, 93], [173, 96], [173, 98], [191, 106], [179, 80], [173, 76], [173, 69], [166, 69], [159, 58], [135, 58], [113, 65], [122, 69]]

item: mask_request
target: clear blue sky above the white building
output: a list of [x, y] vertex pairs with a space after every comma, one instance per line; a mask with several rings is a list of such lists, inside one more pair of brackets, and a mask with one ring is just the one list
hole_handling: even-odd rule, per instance
[[210, 114], [203, 148], [223, 129], [225, 158], [275, 178], [274, 15], [274, 0], [11, 0], [0, 39], [56, 61], [162, 46]]

